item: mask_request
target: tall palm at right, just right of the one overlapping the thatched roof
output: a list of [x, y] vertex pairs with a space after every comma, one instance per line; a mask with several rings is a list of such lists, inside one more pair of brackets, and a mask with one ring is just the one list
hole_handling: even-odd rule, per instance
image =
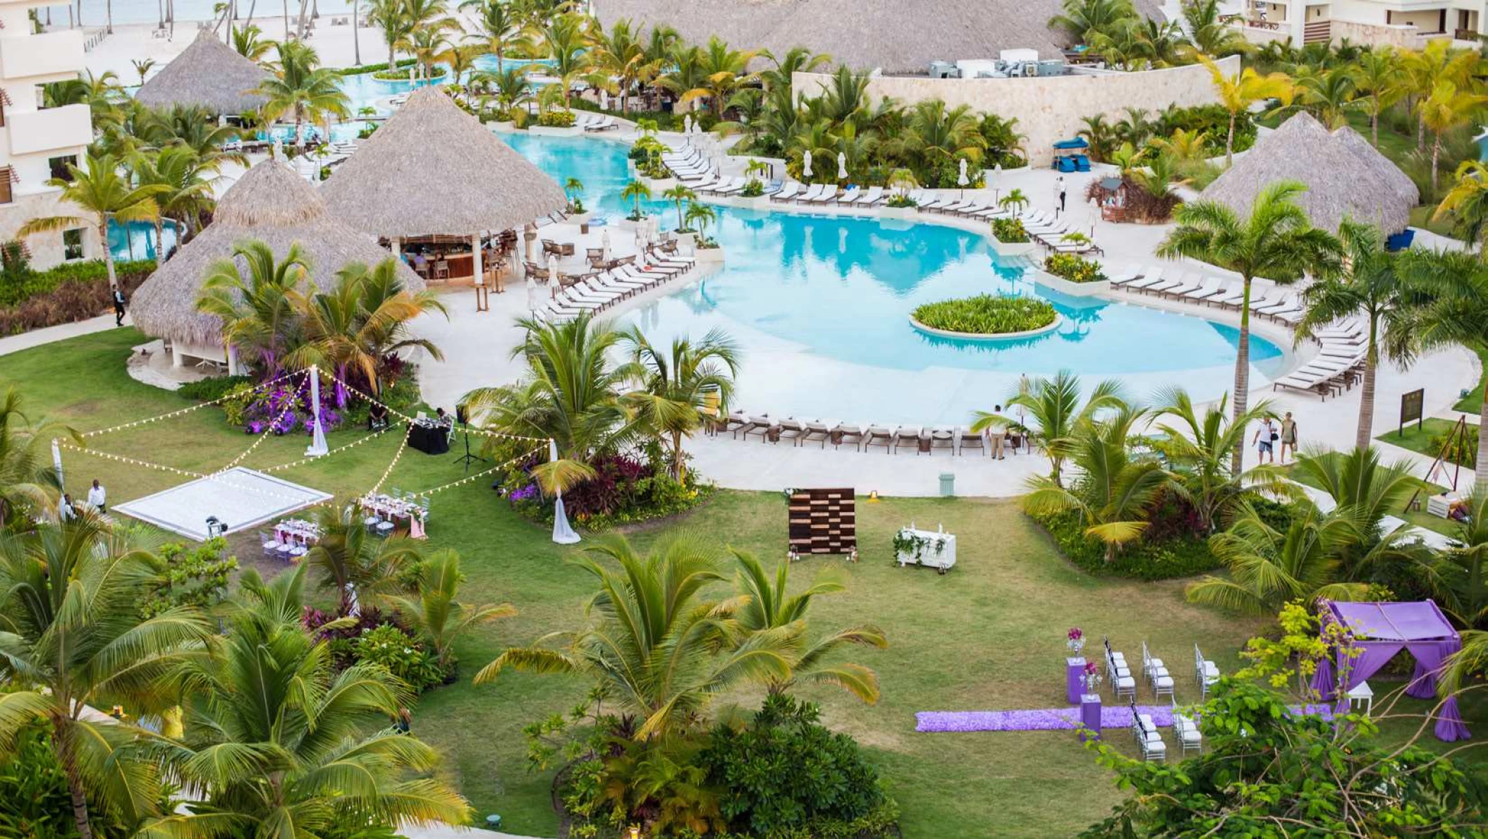
[[1369, 323], [1369, 344], [1364, 351], [1364, 378], [1359, 399], [1359, 425], [1354, 446], [1367, 449], [1373, 440], [1375, 373], [1379, 367], [1381, 342], [1385, 356], [1406, 364], [1414, 359], [1409, 335], [1411, 308], [1417, 295], [1396, 271], [1396, 256], [1384, 248], [1379, 231], [1345, 219], [1338, 226], [1344, 245], [1344, 271], [1327, 275], [1302, 290], [1306, 312], [1298, 323], [1298, 339], [1339, 318], [1363, 317]]

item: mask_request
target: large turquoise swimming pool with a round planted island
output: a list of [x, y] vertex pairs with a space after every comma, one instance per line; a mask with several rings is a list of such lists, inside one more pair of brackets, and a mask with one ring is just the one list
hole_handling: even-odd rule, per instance
[[[625, 146], [594, 138], [503, 135], [552, 174], [583, 181], [585, 205], [615, 219], [629, 177]], [[664, 225], [670, 202], [649, 202]], [[1025, 278], [978, 234], [924, 223], [719, 207], [726, 265], [667, 298], [619, 315], [653, 339], [719, 327], [741, 347], [738, 405], [844, 421], [961, 424], [990, 411], [1018, 378], [1070, 369], [1120, 379], [1140, 399], [1180, 385], [1216, 399], [1234, 379], [1238, 330], [1201, 317], [1070, 298]], [[1055, 305], [1055, 332], [998, 342], [924, 335], [917, 305], [975, 293], [1030, 295]], [[1253, 387], [1275, 378], [1284, 353], [1257, 336]]]

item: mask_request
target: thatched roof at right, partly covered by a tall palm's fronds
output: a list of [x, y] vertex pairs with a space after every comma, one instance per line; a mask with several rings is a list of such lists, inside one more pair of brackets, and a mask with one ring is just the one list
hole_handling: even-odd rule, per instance
[[1345, 216], [1378, 225], [1387, 234], [1403, 231], [1420, 199], [1411, 179], [1353, 128], [1329, 132], [1306, 113], [1256, 140], [1250, 152], [1214, 179], [1204, 198], [1248, 213], [1256, 195], [1278, 180], [1306, 184], [1299, 204], [1312, 225], [1329, 231]]

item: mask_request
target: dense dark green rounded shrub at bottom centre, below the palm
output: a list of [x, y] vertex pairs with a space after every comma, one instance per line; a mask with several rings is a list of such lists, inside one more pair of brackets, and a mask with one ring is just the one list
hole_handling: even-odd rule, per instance
[[851, 824], [888, 800], [857, 742], [818, 719], [815, 705], [775, 693], [745, 727], [713, 729], [698, 757], [708, 782], [723, 790], [719, 809], [729, 830], [832, 835], [821, 827]]

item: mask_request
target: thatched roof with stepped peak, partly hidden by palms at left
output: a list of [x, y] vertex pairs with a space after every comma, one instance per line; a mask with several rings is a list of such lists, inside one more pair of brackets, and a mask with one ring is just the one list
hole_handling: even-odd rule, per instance
[[[284, 164], [263, 161], [222, 195], [211, 225], [182, 245], [134, 293], [129, 306], [134, 323], [146, 335], [195, 344], [219, 342], [220, 323], [196, 311], [196, 296], [207, 268], [232, 256], [232, 245], [248, 240], [262, 240], [280, 259], [293, 242], [299, 242], [310, 262], [310, 278], [320, 289], [330, 289], [336, 271], [348, 262], [371, 266], [393, 256], [372, 237], [326, 213], [315, 187], [305, 179]], [[397, 275], [405, 289], [424, 289], [424, 280], [403, 262], [399, 262]]]

